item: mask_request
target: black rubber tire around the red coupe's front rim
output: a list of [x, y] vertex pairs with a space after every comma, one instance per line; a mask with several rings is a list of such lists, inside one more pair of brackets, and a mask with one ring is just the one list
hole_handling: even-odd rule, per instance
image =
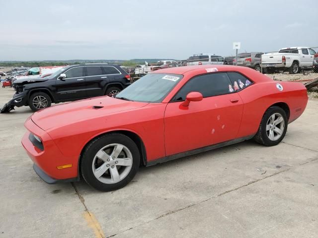
[[[98, 180], [93, 173], [93, 161], [97, 152], [107, 145], [118, 143], [127, 147], [132, 154], [132, 167], [128, 175], [122, 180], [116, 183], [104, 183]], [[108, 162], [107, 162], [108, 163]], [[128, 184], [136, 175], [140, 165], [140, 152], [135, 142], [126, 135], [120, 133], [111, 133], [99, 136], [93, 139], [85, 147], [83, 153], [80, 156], [80, 173], [81, 177], [91, 187], [100, 191], [112, 191], [124, 187]], [[110, 168], [110, 167], [109, 167]], [[117, 168], [117, 167], [116, 167]], [[105, 174], [104, 174], [105, 175]], [[103, 175], [103, 176], [104, 176]]]

